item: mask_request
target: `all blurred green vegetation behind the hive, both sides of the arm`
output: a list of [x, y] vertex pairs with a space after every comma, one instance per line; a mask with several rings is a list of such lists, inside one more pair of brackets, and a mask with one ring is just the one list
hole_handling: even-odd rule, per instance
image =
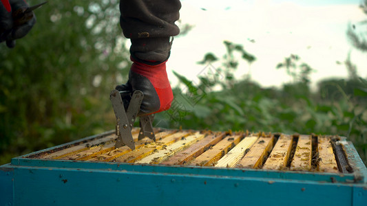
[[[118, 0], [49, 1], [36, 10], [36, 26], [14, 49], [0, 45], [0, 165], [114, 129], [108, 94], [126, 81], [130, 66], [119, 15]], [[182, 25], [183, 33], [189, 27]], [[366, 34], [354, 27], [346, 28], [346, 35], [367, 52]], [[314, 69], [291, 54], [274, 69], [285, 69], [293, 81], [263, 88], [251, 78], [233, 77], [240, 61], [256, 60], [251, 51], [229, 41], [224, 47], [224, 56], [208, 53], [198, 62], [205, 67], [200, 82], [175, 73], [180, 82], [175, 100], [169, 111], [156, 115], [154, 126], [342, 135], [367, 163], [367, 80], [349, 56], [339, 62], [348, 77], [323, 80], [311, 89]]]

